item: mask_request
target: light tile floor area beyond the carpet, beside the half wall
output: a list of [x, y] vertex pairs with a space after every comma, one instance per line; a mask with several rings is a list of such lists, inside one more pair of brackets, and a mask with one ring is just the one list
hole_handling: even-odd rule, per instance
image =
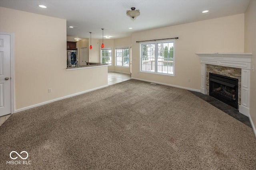
[[108, 85], [124, 82], [130, 80], [130, 74], [124, 74], [119, 72], [108, 72]]

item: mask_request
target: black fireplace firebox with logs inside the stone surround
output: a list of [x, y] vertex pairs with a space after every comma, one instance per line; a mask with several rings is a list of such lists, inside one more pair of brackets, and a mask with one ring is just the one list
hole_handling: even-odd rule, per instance
[[210, 72], [209, 95], [238, 109], [238, 79]]

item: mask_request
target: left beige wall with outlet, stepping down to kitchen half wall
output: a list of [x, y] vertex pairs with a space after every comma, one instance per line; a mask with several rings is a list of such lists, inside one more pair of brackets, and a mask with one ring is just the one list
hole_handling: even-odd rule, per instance
[[0, 31], [14, 33], [15, 109], [108, 82], [107, 67], [66, 71], [66, 20], [0, 7]]

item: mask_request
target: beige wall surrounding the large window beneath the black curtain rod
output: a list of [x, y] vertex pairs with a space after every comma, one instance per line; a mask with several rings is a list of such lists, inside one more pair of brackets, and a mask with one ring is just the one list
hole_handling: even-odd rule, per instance
[[[175, 44], [176, 76], [140, 72], [140, 45], [136, 41], [168, 37], [179, 37]], [[244, 14], [133, 33], [132, 77], [199, 90], [201, 68], [195, 53], [244, 53]]]

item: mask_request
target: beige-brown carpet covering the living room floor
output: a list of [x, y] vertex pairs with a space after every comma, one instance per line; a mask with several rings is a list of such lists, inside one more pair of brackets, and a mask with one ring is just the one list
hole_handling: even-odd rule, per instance
[[11, 115], [0, 169], [255, 170], [256, 137], [187, 90], [128, 80]]

